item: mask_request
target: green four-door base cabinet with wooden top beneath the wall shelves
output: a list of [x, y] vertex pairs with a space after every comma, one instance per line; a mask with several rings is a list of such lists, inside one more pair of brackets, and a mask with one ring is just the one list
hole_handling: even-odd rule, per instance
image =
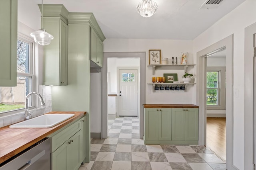
[[148, 145], [198, 145], [198, 106], [144, 104], [144, 142]]

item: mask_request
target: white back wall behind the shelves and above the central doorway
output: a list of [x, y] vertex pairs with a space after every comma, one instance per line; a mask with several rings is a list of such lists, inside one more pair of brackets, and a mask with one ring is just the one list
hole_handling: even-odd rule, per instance
[[[188, 64], [196, 63], [193, 57], [191, 40], [159, 40], [159, 39], [106, 39], [104, 41], [104, 52], [146, 52], [146, 63], [148, 63], [148, 50], [161, 49], [162, 58], [171, 60], [172, 57], [181, 59], [181, 52], [188, 52]], [[195, 55], [196, 56], [196, 55]], [[189, 68], [188, 72], [195, 74], [195, 68]], [[156, 70], [154, 76], [163, 76], [163, 73], [178, 73], [178, 80], [181, 80], [184, 70]], [[152, 81], [152, 67], [146, 67], [146, 83]], [[196, 86], [189, 86], [187, 92], [184, 91], [157, 91], [152, 93], [152, 85], [146, 86], [146, 104], [195, 104]]]

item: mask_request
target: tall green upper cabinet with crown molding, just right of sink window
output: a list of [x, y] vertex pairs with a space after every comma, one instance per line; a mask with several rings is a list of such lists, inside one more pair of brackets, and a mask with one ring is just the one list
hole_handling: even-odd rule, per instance
[[54, 39], [43, 47], [43, 85], [68, 85], [68, 14], [61, 4], [44, 4], [43, 27]]

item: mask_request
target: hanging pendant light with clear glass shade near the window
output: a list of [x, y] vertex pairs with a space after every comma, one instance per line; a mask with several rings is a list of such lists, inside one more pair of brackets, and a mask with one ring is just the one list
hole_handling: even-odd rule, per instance
[[39, 45], [48, 45], [51, 43], [53, 36], [46, 32], [43, 28], [43, 14], [44, 14], [44, 7], [43, 7], [43, 0], [42, 0], [42, 16], [41, 16], [41, 28], [38, 31], [34, 31], [30, 34], [31, 37], [34, 38], [34, 41]]

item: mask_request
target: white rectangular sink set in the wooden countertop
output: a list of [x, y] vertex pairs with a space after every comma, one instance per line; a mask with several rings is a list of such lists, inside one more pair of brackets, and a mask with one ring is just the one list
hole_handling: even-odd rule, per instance
[[20, 123], [10, 125], [10, 128], [48, 128], [69, 119], [74, 114], [46, 114]]

